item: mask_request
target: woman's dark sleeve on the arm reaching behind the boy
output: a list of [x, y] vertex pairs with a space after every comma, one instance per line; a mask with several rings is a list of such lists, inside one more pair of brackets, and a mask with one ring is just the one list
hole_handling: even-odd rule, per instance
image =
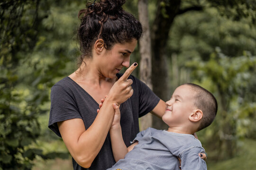
[[139, 82], [139, 117], [142, 117], [155, 108], [160, 98], [145, 83]]

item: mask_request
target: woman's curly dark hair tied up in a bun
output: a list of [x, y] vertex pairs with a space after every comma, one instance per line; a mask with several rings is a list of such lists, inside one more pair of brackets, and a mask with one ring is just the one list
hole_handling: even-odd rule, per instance
[[103, 39], [107, 50], [110, 50], [115, 43], [140, 39], [142, 26], [132, 14], [123, 10], [124, 3], [125, 0], [88, 2], [86, 8], [79, 11], [81, 24], [77, 36], [82, 52], [79, 65], [85, 57], [91, 57], [93, 44], [98, 39]]

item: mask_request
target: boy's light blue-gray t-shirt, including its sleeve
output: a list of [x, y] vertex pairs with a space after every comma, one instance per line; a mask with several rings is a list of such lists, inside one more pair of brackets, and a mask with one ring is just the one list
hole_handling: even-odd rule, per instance
[[138, 144], [108, 170], [207, 170], [198, 153], [205, 153], [193, 135], [147, 128], [137, 134]]

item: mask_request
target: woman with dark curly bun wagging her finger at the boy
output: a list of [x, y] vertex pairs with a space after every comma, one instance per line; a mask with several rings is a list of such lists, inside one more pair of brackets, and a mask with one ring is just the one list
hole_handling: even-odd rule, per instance
[[[127, 146], [139, 132], [138, 117], [150, 111], [162, 117], [165, 112], [165, 102], [129, 76], [137, 67], [134, 63], [128, 68], [142, 26], [122, 9], [124, 3], [101, 0], [79, 12], [80, 67], [52, 87], [49, 128], [63, 138], [74, 170], [106, 170], [115, 163], [108, 134], [114, 117], [112, 103], [120, 104]], [[123, 67], [128, 70], [122, 76]]]

